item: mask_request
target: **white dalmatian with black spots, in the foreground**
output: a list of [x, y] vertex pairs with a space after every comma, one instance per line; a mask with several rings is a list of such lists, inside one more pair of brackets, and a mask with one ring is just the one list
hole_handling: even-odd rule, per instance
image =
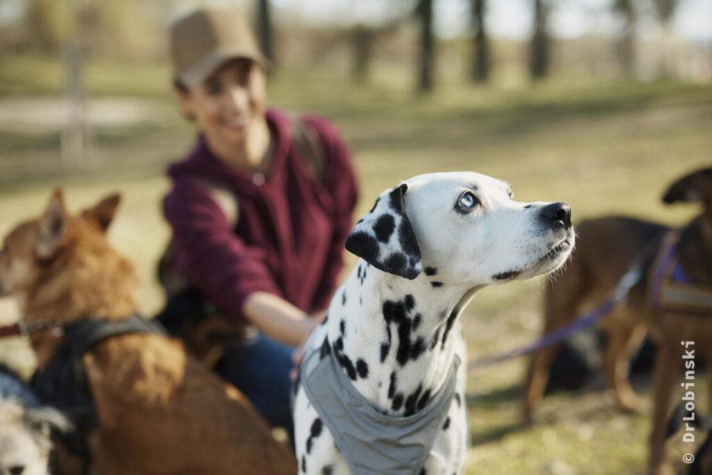
[[[441, 408], [444, 422], [428, 432], [424, 461], [414, 457], [417, 465], [397, 473], [460, 474], [468, 427], [459, 314], [484, 286], [554, 271], [573, 246], [567, 204], [516, 202], [506, 182], [473, 172], [408, 179], [381, 194], [347, 237], [346, 248], [360, 259], [305, 355], [333, 358], [347, 390], [355, 390], [349, 394], [365, 400], [375, 417], [406, 425], [454, 380]], [[358, 468], [369, 454], [345, 457], [337, 442], [351, 429], [325, 423], [320, 401], [309, 396], [304, 360], [300, 370], [293, 404], [300, 473], [374, 473]]]

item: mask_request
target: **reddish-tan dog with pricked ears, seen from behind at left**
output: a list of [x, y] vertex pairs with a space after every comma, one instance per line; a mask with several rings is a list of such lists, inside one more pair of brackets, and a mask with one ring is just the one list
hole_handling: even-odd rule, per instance
[[[40, 370], [61, 338], [46, 328], [136, 311], [137, 278], [108, 245], [119, 202], [108, 197], [80, 216], [55, 192], [46, 212], [6, 236], [0, 295], [19, 301]], [[88, 434], [92, 473], [295, 474], [293, 454], [276, 442], [234, 387], [187, 355], [177, 340], [129, 333], [96, 343], [83, 364], [98, 424]]]

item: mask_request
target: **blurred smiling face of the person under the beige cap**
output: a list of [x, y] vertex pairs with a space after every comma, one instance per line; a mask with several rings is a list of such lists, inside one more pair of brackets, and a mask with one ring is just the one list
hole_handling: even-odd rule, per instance
[[265, 121], [265, 74], [248, 59], [224, 63], [201, 85], [177, 90], [176, 97], [212, 150], [244, 147], [246, 136]]

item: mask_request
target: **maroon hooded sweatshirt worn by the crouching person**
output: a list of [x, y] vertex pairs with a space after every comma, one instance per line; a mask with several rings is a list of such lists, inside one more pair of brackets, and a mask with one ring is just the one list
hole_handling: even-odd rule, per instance
[[[203, 137], [185, 160], [168, 169], [173, 187], [164, 199], [164, 214], [173, 228], [177, 271], [235, 318], [244, 318], [243, 303], [256, 291], [307, 312], [325, 308], [343, 266], [357, 198], [349, 152], [333, 125], [315, 116], [302, 118], [323, 142], [322, 183], [293, 144], [287, 116], [270, 110], [266, 117], [276, 151], [263, 183], [218, 160]], [[236, 226], [201, 182], [234, 194]]]

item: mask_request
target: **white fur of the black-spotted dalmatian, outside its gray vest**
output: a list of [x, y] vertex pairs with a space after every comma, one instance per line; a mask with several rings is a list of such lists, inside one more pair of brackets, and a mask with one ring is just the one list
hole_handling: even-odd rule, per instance
[[[454, 355], [459, 355], [462, 365], [456, 397], [449, 408], [449, 424], [439, 432], [423, 467], [429, 475], [459, 474], [465, 463], [468, 427], [464, 399], [467, 355], [458, 315], [478, 288], [511, 278], [530, 278], [558, 268], [570, 255], [574, 232], [572, 227], [565, 229], [543, 220], [541, 211], [546, 203], [515, 202], [508, 184], [486, 175], [424, 174], [405, 183], [405, 214], [422, 256], [415, 267], [417, 271], [424, 271], [409, 280], [374, 267], [399, 252], [401, 241], [395, 231], [387, 241], [379, 242], [374, 265], [360, 259], [335, 293], [327, 322], [316, 330], [310, 342], [320, 345], [324, 335], [328, 335], [333, 347], [341, 340], [342, 355], [346, 355], [352, 365], [362, 360], [362, 366], [367, 367], [367, 377], [352, 378], [354, 387], [373, 407], [392, 415], [404, 415], [407, 411], [405, 402], [396, 404], [397, 395], [407, 400], [408, 396], [418, 395], [419, 387], [422, 388], [419, 397], [425, 390], [435, 394], [445, 382]], [[355, 231], [376, 236], [371, 227], [373, 223], [383, 214], [394, 214], [389, 202], [394, 190], [379, 197], [375, 209], [357, 224]], [[456, 203], [468, 190], [481, 204], [470, 212], [457, 212]], [[404, 216], [394, 216], [396, 229], [404, 219]], [[559, 250], [548, 256], [556, 246]], [[426, 275], [429, 268], [436, 268], [436, 273]], [[509, 274], [511, 278], [497, 278]], [[403, 305], [406, 296], [412, 296], [413, 305], [409, 309]], [[408, 338], [401, 339], [399, 330], [402, 328], [389, 323], [384, 316], [384, 308], [391, 305], [384, 306], [388, 301], [402, 305], [400, 310], [405, 310], [408, 323], [404, 328], [411, 330]], [[385, 344], [388, 341], [390, 345]], [[404, 344], [406, 341], [410, 344]], [[418, 343], [425, 350], [413, 350]], [[387, 352], [382, 351], [382, 346], [388, 348]], [[414, 357], [404, 362], [404, 355]], [[395, 391], [391, 384], [393, 377]], [[348, 474], [345, 461], [326, 427], [318, 437], [310, 437], [317, 418], [303, 388], [298, 387], [294, 419], [300, 473]]]

